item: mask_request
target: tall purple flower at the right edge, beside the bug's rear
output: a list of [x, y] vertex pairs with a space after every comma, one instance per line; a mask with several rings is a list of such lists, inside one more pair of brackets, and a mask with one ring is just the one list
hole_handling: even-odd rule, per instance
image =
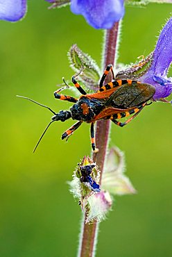
[[172, 78], [167, 78], [172, 62], [172, 18], [166, 23], [153, 53], [153, 63], [139, 81], [155, 87], [154, 99], [169, 97], [172, 92]]

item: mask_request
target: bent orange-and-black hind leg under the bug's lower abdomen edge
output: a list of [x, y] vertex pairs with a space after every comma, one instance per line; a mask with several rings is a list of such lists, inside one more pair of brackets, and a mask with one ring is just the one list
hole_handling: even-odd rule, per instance
[[[132, 119], [134, 119], [141, 112], [141, 110], [144, 108], [145, 105], [146, 105], [146, 103], [144, 103], [142, 106], [139, 106], [138, 108], [129, 110], [128, 112], [123, 112], [123, 113], [118, 113], [118, 114], [112, 115], [110, 117], [110, 119], [112, 120], [112, 122], [114, 122], [114, 124], [116, 124], [118, 126], [125, 126], [126, 124], [131, 122]], [[122, 117], [128, 117], [131, 114], [134, 114], [134, 115], [132, 117], [130, 117], [129, 119], [127, 119], [126, 122], [117, 122], [117, 119], [121, 119]]]

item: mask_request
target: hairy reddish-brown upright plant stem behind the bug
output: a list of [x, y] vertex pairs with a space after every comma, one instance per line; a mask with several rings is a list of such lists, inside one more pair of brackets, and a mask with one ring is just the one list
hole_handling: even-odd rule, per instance
[[[119, 23], [105, 31], [105, 43], [103, 49], [103, 70], [108, 64], [114, 65], [114, 60], [117, 53], [117, 37]], [[109, 78], [107, 78], [109, 79]], [[107, 80], [106, 80], [107, 83]], [[93, 154], [93, 161], [96, 162], [98, 168], [103, 173], [105, 156], [107, 153], [108, 135], [110, 132], [110, 121], [100, 120], [96, 123], [96, 147], [99, 151]], [[100, 181], [101, 184], [101, 181]], [[85, 224], [83, 219], [82, 233], [80, 234], [80, 247], [78, 257], [94, 257], [96, 248], [96, 238], [98, 233], [98, 222], [94, 224]]]

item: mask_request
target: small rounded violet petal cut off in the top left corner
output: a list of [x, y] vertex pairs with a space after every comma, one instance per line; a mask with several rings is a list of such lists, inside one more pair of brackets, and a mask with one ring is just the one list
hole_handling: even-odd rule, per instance
[[26, 0], [0, 0], [0, 19], [17, 22], [26, 13]]

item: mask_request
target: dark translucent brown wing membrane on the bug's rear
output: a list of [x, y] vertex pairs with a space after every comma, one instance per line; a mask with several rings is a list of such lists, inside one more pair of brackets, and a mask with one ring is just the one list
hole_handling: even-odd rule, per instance
[[105, 106], [120, 109], [132, 108], [146, 103], [146, 101], [153, 97], [153, 94], [155, 94], [155, 88], [152, 85], [126, 83], [111, 94], [105, 102]]

